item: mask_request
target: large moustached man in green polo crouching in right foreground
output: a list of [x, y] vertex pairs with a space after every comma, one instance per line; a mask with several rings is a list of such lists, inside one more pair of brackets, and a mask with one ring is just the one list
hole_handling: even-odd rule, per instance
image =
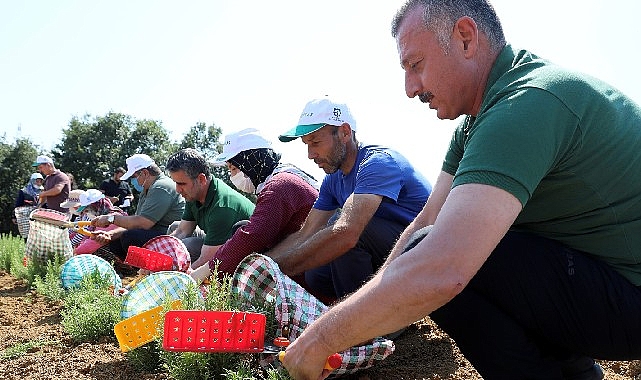
[[287, 347], [289, 375], [426, 315], [485, 380], [641, 359], [641, 106], [507, 43], [488, 0], [408, 0], [392, 36], [407, 96], [464, 119], [423, 210]]

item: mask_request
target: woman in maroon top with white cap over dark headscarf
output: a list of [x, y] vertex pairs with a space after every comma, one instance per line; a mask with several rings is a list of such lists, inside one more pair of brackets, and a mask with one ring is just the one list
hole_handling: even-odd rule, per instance
[[[290, 164], [254, 128], [230, 134], [214, 165], [227, 165], [238, 190], [257, 195], [249, 222], [240, 226], [213, 257], [200, 257], [192, 276], [202, 281], [218, 265], [219, 274], [231, 274], [251, 253], [266, 252], [298, 231], [318, 196], [316, 180]], [[205, 265], [203, 265], [205, 264]], [[208, 264], [208, 265], [207, 265]]]

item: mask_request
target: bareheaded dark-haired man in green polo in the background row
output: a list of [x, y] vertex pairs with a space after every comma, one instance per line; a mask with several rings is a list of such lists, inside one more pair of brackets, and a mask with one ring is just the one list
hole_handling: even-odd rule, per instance
[[[198, 268], [209, 262], [218, 247], [231, 237], [236, 223], [249, 219], [254, 204], [214, 177], [205, 158], [194, 149], [174, 153], [166, 167], [176, 190], [187, 201], [182, 220], [171, 234], [183, 239], [192, 268]], [[204, 237], [192, 236], [196, 226], [205, 233]]]

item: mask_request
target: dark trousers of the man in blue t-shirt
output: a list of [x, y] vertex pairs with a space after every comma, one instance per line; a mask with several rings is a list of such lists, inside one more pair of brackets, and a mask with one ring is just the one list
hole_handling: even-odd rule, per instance
[[329, 264], [306, 271], [305, 282], [313, 293], [328, 298], [354, 292], [383, 265], [405, 227], [372, 217], [354, 248]]

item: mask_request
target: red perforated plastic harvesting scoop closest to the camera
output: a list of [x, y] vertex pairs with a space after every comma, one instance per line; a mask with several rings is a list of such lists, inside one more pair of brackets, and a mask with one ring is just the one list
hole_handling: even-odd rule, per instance
[[171, 310], [165, 315], [167, 351], [261, 352], [265, 315], [243, 311]]

